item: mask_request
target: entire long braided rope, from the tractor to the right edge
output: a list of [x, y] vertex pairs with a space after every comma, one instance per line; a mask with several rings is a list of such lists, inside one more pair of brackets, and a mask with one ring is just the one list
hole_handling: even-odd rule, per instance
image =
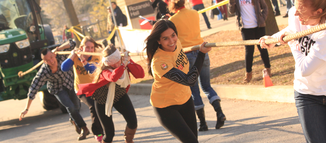
[[[288, 42], [294, 39], [298, 39], [304, 36], [308, 36], [310, 34], [319, 32], [319, 31], [323, 31], [326, 30], [326, 23], [324, 24], [320, 24], [316, 27], [301, 31], [301, 32], [297, 32], [295, 34], [291, 34], [288, 36], [284, 36], [283, 37], [283, 41]], [[279, 43], [277, 38], [271, 38], [271, 39], [266, 39], [265, 43], [268, 44], [276, 44]], [[259, 40], [244, 40], [244, 41], [229, 41], [229, 42], [217, 42], [217, 43], [207, 43], [205, 44], [205, 47], [226, 47], [226, 46], [247, 46], [247, 45], [259, 45]], [[192, 47], [187, 47], [187, 48], [183, 48], [184, 52], [189, 52], [189, 51], [193, 51], [193, 50], [199, 50], [200, 49], [200, 45], [196, 45], [196, 46], [192, 46]], [[70, 54], [70, 51], [57, 51], [55, 52], [56, 54]], [[77, 54], [77, 51], [75, 51], [75, 53]], [[84, 55], [93, 55], [93, 56], [102, 56], [102, 53], [94, 53], [94, 52], [79, 52], [79, 54], [84, 54]], [[128, 53], [129, 56], [140, 56], [140, 55], [146, 55], [146, 53]], [[124, 54], [121, 54], [121, 56], [124, 56]], [[18, 73], [19, 77], [24, 76], [25, 74], [31, 72], [32, 70], [36, 69], [38, 66], [40, 66], [41, 64], [43, 64], [43, 61], [41, 61], [40, 63], [38, 63], [37, 65], [35, 65], [34, 67], [32, 67], [31, 69], [22, 72], [20, 71]]]

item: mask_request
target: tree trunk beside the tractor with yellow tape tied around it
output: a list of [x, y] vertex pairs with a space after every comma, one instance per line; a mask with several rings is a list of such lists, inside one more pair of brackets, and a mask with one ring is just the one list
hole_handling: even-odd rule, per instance
[[[75, 8], [72, 5], [72, 1], [71, 0], [62, 0], [62, 1], [64, 3], [64, 6], [66, 8], [66, 11], [68, 13], [68, 16], [69, 16], [69, 19], [70, 19], [70, 22], [71, 22], [72, 26], [78, 25], [79, 21], [78, 21], [78, 18], [77, 18], [77, 14], [75, 12]], [[78, 31], [79, 33], [82, 33], [82, 31], [79, 30], [79, 29], [75, 29], [75, 30]], [[81, 36], [79, 36], [79, 37], [82, 39]], [[78, 40], [76, 35], [74, 35], [74, 39], [76, 41], [76, 47], [78, 48], [81, 42]]]

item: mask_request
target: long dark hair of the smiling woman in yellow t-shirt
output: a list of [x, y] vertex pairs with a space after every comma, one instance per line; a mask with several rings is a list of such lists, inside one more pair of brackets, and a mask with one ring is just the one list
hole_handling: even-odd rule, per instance
[[152, 77], [153, 77], [153, 73], [152, 73], [151, 63], [152, 63], [153, 55], [156, 52], [157, 48], [160, 46], [157, 41], [160, 40], [161, 34], [165, 30], [168, 30], [169, 28], [172, 28], [175, 34], [178, 36], [177, 28], [175, 28], [173, 22], [166, 19], [161, 19], [153, 25], [151, 34], [145, 39], [146, 47], [144, 48], [144, 50], [142, 50], [142, 52], [146, 50], [147, 59], [146, 58], [144, 59], [146, 59], [147, 61], [148, 73]]

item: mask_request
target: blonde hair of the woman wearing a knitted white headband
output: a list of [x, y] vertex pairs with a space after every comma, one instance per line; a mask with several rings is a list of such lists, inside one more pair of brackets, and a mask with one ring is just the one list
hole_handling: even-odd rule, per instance
[[[103, 50], [103, 58], [110, 56], [113, 52], [115, 52], [115, 50], [117, 50], [113, 44], [110, 44], [108, 46], [105, 47], [105, 49]], [[122, 58], [122, 57], [121, 57]], [[106, 66], [105, 64], [103, 64], [103, 62], [100, 62], [98, 64], [91, 62], [90, 64], [94, 64], [97, 68], [96, 70], [91, 74], [92, 77], [95, 77], [93, 80], [93, 83], [97, 83], [100, 79], [100, 75], [102, 73], [103, 70], [105, 69], [112, 69], [111, 66]]]

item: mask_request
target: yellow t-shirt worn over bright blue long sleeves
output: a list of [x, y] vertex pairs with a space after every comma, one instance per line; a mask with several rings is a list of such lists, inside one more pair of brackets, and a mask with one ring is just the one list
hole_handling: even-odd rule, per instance
[[[85, 70], [78, 56], [76, 56], [73, 61], [74, 61], [73, 67], [74, 67], [74, 75], [75, 75], [74, 87], [75, 90], [78, 91], [79, 90], [78, 84], [91, 83], [93, 81], [93, 77], [91, 77], [88, 74], [88, 72]], [[87, 62], [99, 63], [100, 61], [101, 61], [100, 56], [92, 56], [91, 60]]]

